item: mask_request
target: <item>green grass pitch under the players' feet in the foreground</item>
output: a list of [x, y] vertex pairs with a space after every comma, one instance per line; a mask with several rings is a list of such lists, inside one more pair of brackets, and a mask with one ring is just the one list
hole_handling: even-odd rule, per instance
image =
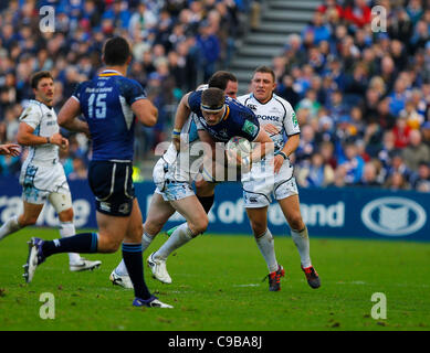
[[[22, 265], [31, 236], [57, 237], [56, 229], [24, 229], [0, 243], [0, 330], [146, 331], [355, 331], [430, 329], [430, 244], [311, 238], [311, 256], [322, 287], [311, 289], [290, 236], [275, 235], [286, 270], [280, 292], [270, 292], [265, 263], [252, 236], [207, 234], [167, 261], [171, 285], [149, 275], [150, 290], [172, 310], [132, 307], [132, 290], [112, 286], [120, 252], [88, 255], [102, 267], [71, 272], [65, 254], [41, 265], [27, 285]], [[166, 239], [159, 235], [144, 259]], [[40, 297], [55, 299], [55, 318], [41, 319]], [[387, 318], [371, 310], [385, 295]], [[380, 309], [374, 309], [381, 313]]]

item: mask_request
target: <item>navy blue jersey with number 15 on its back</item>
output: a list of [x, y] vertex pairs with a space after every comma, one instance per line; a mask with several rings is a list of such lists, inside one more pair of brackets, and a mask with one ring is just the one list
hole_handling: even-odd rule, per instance
[[93, 160], [133, 160], [135, 116], [132, 105], [145, 99], [144, 88], [116, 71], [105, 69], [76, 87], [73, 97], [90, 127]]

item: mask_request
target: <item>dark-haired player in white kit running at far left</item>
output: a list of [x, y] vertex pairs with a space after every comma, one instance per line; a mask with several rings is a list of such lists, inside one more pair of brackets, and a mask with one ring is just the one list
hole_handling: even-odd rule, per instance
[[[23, 211], [9, 218], [0, 228], [0, 239], [38, 221], [43, 205], [49, 201], [59, 214], [60, 235], [74, 235], [72, 195], [63, 165], [59, 161], [59, 149], [66, 149], [67, 139], [59, 131], [56, 114], [52, 107], [54, 81], [46, 72], [38, 72], [31, 78], [35, 95], [20, 116], [17, 140], [29, 146], [30, 152], [21, 168], [20, 183], [23, 188]], [[12, 146], [12, 152], [14, 151]], [[98, 267], [101, 261], [91, 261], [78, 254], [70, 253], [70, 270], [82, 271]]]

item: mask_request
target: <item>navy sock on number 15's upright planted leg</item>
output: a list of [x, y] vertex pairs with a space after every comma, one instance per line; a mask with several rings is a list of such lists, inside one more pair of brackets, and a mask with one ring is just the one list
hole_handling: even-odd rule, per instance
[[144, 279], [144, 260], [141, 256], [141, 243], [125, 244], [123, 243], [123, 259], [127, 267], [128, 276], [132, 279], [135, 289], [135, 297], [144, 300], [150, 298], [148, 287]]

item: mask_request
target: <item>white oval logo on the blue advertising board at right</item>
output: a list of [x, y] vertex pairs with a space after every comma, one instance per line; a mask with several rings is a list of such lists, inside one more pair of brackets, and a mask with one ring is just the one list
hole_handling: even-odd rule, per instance
[[375, 233], [387, 236], [406, 236], [423, 227], [427, 213], [412, 200], [381, 197], [369, 202], [363, 208], [361, 221]]

